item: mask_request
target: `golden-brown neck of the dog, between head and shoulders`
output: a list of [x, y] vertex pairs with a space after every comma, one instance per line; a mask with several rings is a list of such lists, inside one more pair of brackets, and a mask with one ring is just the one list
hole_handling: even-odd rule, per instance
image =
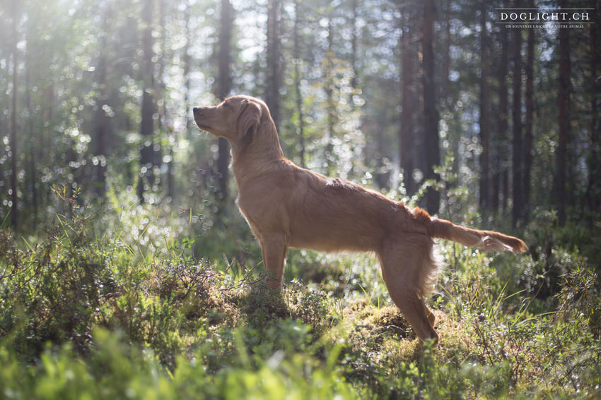
[[278, 134], [272, 119], [262, 121], [255, 138], [246, 145], [230, 143], [232, 169], [238, 186], [254, 176], [264, 174], [274, 162], [284, 160]]

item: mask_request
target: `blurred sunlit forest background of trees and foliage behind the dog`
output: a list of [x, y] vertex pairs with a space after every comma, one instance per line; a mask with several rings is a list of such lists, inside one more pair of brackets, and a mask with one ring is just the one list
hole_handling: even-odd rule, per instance
[[555, 210], [598, 233], [599, 32], [510, 29], [510, 6], [4, 1], [0, 217], [35, 232], [65, 186], [105, 218], [138, 204], [227, 224], [228, 151], [190, 110], [249, 94], [296, 164], [443, 217], [519, 228]]

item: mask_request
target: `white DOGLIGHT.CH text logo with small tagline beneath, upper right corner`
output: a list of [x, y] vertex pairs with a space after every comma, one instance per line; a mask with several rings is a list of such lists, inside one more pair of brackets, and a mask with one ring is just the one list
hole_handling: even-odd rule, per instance
[[495, 8], [505, 28], [585, 28], [595, 23], [595, 8]]

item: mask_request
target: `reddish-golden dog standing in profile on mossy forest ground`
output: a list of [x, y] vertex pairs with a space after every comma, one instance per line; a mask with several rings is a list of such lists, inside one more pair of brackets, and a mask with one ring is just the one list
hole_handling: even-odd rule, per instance
[[487, 251], [526, 250], [519, 238], [457, 226], [350, 181], [296, 166], [284, 157], [260, 99], [228, 97], [214, 107], [194, 107], [193, 113], [202, 131], [231, 145], [238, 207], [261, 246], [269, 288], [281, 289], [288, 248], [372, 252], [392, 301], [417, 337], [436, 343], [436, 317], [425, 303], [439, 269], [432, 238]]

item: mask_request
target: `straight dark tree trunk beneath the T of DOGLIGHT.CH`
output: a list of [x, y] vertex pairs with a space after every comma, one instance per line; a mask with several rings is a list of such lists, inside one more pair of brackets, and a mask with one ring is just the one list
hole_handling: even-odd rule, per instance
[[[567, 1], [560, 2], [561, 8]], [[570, 117], [570, 44], [568, 29], [559, 30], [559, 141], [557, 145], [557, 215], [559, 224], [566, 222], [566, 171]]]

